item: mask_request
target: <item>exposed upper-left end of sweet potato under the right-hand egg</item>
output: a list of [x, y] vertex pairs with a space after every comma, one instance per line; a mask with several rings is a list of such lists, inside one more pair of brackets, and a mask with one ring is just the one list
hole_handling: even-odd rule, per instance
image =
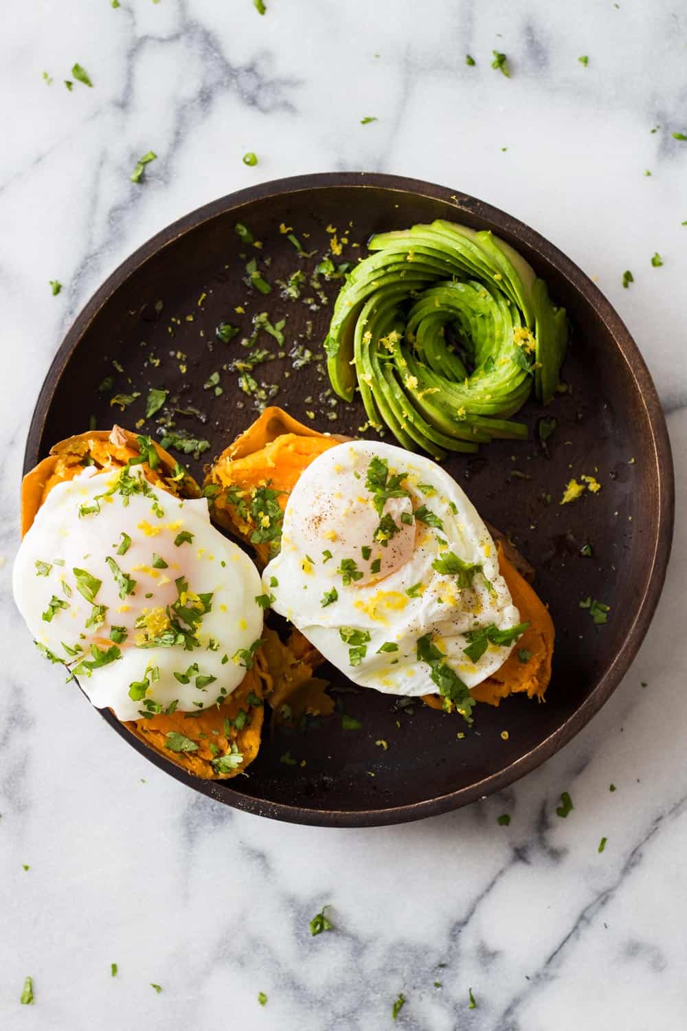
[[[233, 496], [247, 505], [257, 488], [269, 487], [278, 492], [277, 503], [283, 511], [303, 470], [318, 455], [343, 439], [318, 433], [281, 408], [271, 406], [222, 452], [211, 467], [206, 484], [230, 488]], [[269, 542], [251, 541], [254, 523], [241, 514], [225, 490], [212, 499], [212, 518], [249, 543], [259, 564], [267, 565]]]

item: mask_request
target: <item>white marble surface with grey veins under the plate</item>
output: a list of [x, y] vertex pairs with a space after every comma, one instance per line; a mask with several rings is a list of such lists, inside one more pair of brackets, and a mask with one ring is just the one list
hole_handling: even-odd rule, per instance
[[[0, 1026], [371, 1031], [392, 1026], [403, 992], [408, 1031], [682, 1031], [687, 143], [672, 133], [687, 132], [684, 5], [267, 5], [261, 18], [250, 0], [33, 0], [3, 19]], [[75, 61], [94, 89], [67, 92]], [[150, 147], [159, 160], [133, 186]], [[679, 480], [658, 614], [592, 724], [502, 797], [359, 831], [233, 812], [156, 770], [44, 666], [8, 595], [28, 422], [93, 290], [205, 201], [336, 169], [473, 193], [570, 254], [647, 358]], [[337, 930], [310, 937], [325, 902]], [[19, 1004], [26, 974], [32, 1007]]]

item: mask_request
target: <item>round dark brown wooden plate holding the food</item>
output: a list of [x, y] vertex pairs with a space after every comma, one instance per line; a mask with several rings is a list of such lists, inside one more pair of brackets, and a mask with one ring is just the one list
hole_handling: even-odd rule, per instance
[[[187, 461], [200, 476], [203, 463], [256, 414], [234, 373], [220, 371], [220, 396], [204, 389], [212, 372], [245, 354], [239, 337], [230, 344], [215, 338], [217, 324], [229, 321], [247, 334], [255, 312], [268, 311], [273, 322], [285, 315], [283, 350], [321, 352], [331, 304], [311, 309], [284, 300], [278, 288], [267, 297], [248, 290], [240, 255], [257, 251], [240, 242], [237, 221], [263, 241], [261, 254], [271, 259], [265, 274], [275, 282], [303, 262], [280, 224], [294, 227], [305, 250], [320, 252], [305, 263], [312, 267], [328, 246], [328, 226], [348, 238], [337, 260], [355, 260], [371, 233], [437, 218], [492, 229], [512, 243], [547, 280], [573, 325], [562, 371], [570, 389], [546, 410], [558, 420], [546, 451], [536, 432], [544, 411], [530, 401], [520, 413], [528, 441], [497, 441], [478, 457], [457, 455], [445, 463], [483, 518], [506, 531], [537, 568], [537, 589], [557, 635], [546, 704], [511, 698], [499, 709], [482, 705], [474, 728], [458, 739], [466, 728], [455, 716], [422, 704], [399, 710], [393, 698], [374, 691], [345, 692], [339, 705], [362, 730], [342, 730], [337, 717], [301, 733], [268, 726], [248, 776], [228, 783], [186, 775], [102, 713], [150, 762], [228, 805], [297, 823], [365, 826], [444, 812], [499, 791], [562, 747], [604, 704], [658, 601], [673, 532], [673, 465], [658, 397], [637, 345], [596, 287], [554, 246], [503, 211], [427, 182], [363, 173], [281, 179], [224, 197], [159, 233], [107, 279], [68, 332], [38, 398], [25, 469], [54, 442], [87, 429], [91, 417], [99, 428], [116, 418], [134, 429], [156, 387], [178, 397], [177, 408], [207, 415], [204, 423], [177, 417], [177, 426], [211, 443], [201, 461]], [[246, 313], [237, 314], [237, 306]], [[260, 345], [268, 344], [277, 350], [263, 335]], [[159, 365], [150, 363], [151, 354]], [[99, 393], [108, 375], [112, 389]], [[279, 388], [273, 403], [306, 422], [314, 413], [319, 429], [351, 434], [365, 422], [359, 402], [331, 404], [316, 360], [295, 371], [287, 356], [259, 366], [254, 375]], [[112, 393], [133, 391], [141, 396], [126, 412], [110, 406]], [[145, 429], [154, 432], [154, 417]], [[602, 491], [560, 505], [566, 481], [581, 473], [595, 475]], [[593, 557], [581, 554], [586, 543]], [[611, 606], [607, 625], [594, 626], [580, 608], [589, 596]], [[323, 675], [335, 689], [350, 689], [336, 670], [325, 667]], [[375, 743], [380, 739], [387, 751]], [[287, 751], [296, 765], [281, 761]]]

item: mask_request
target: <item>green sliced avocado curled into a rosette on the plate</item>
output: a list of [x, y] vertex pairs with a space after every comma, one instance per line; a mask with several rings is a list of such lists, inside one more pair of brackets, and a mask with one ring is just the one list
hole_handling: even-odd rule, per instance
[[348, 275], [324, 341], [339, 397], [435, 458], [526, 437], [510, 419], [558, 389], [568, 321], [504, 240], [438, 220], [379, 233]]

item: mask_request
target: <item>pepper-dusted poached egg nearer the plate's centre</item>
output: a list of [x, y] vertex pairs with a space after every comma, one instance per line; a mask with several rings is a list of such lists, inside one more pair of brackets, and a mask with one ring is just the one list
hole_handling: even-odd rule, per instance
[[[386, 546], [374, 541], [380, 514], [366, 487], [375, 457], [386, 460], [389, 472], [404, 474], [410, 494], [390, 498], [382, 509], [399, 527]], [[420, 506], [441, 521], [441, 529], [413, 518]], [[365, 554], [371, 547], [369, 559], [364, 547]], [[481, 566], [471, 587], [459, 588], [454, 575], [433, 568], [449, 552]], [[377, 558], [375, 574], [371, 565]], [[352, 559], [363, 573], [348, 585], [342, 559]], [[513, 645], [489, 644], [473, 662], [463, 651], [466, 632], [490, 625], [508, 630], [519, 623], [494, 542], [467, 495], [435, 462], [385, 443], [342, 443], [308, 466], [289, 495], [281, 551], [265, 569], [263, 586], [273, 596], [272, 607], [330, 662], [354, 683], [388, 694], [440, 693], [430, 665], [417, 658], [418, 638], [427, 633], [445, 663], [467, 687], [475, 687], [503, 665]], [[337, 599], [322, 604], [333, 590]], [[357, 665], [351, 665], [342, 628], [370, 634]], [[398, 651], [380, 652], [382, 645]]]

